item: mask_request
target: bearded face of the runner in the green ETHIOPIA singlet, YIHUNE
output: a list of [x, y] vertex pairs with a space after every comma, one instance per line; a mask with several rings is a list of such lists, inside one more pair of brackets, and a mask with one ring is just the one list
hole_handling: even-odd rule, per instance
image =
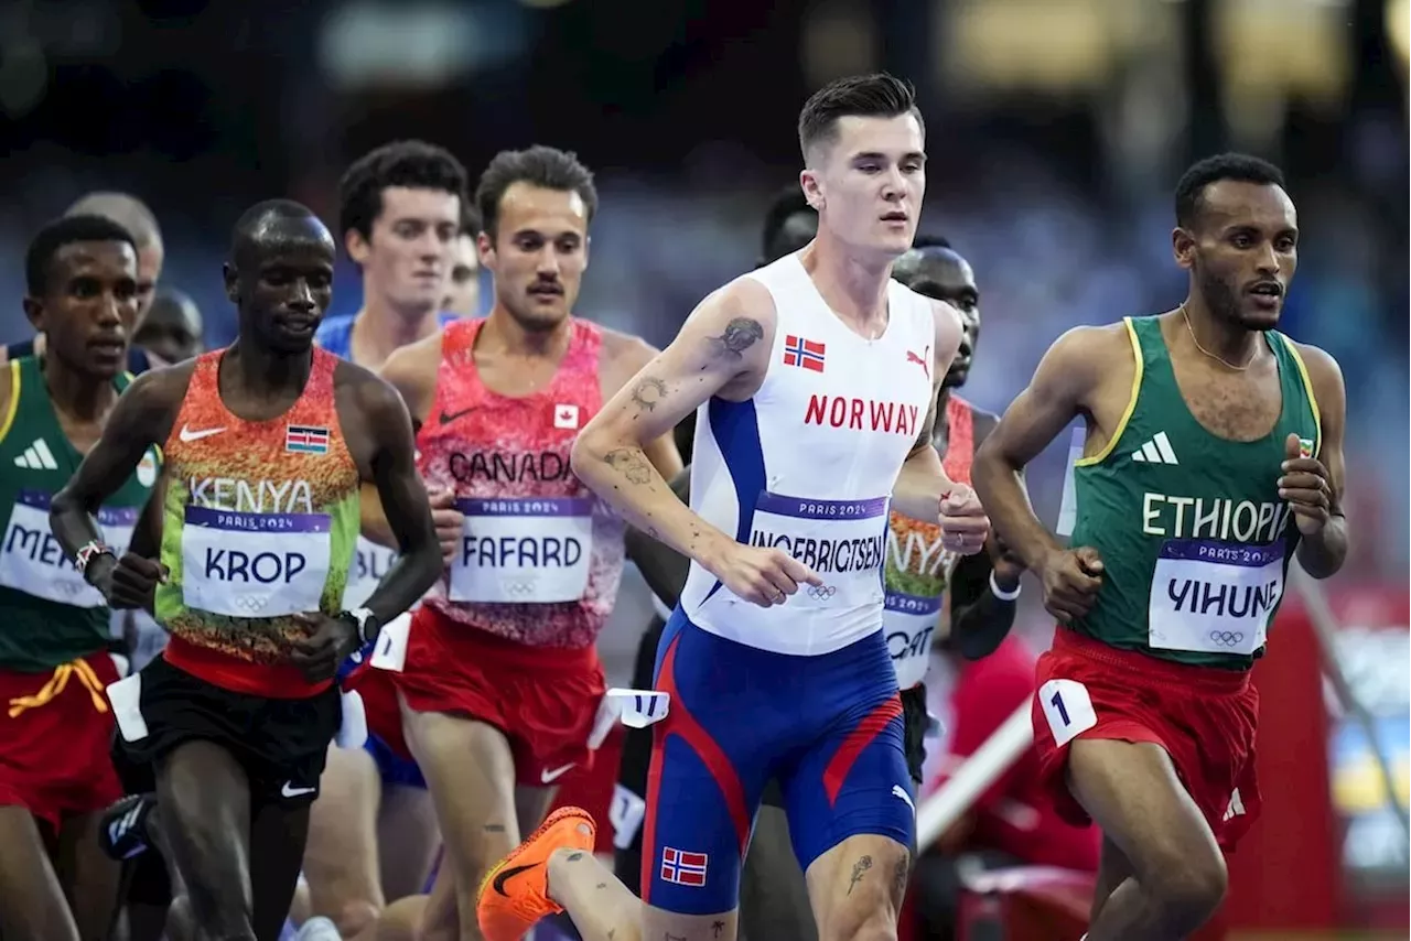
[[1281, 186], [1211, 183], [1195, 226], [1177, 229], [1171, 244], [1215, 316], [1246, 330], [1278, 324], [1298, 268], [1298, 213]]

